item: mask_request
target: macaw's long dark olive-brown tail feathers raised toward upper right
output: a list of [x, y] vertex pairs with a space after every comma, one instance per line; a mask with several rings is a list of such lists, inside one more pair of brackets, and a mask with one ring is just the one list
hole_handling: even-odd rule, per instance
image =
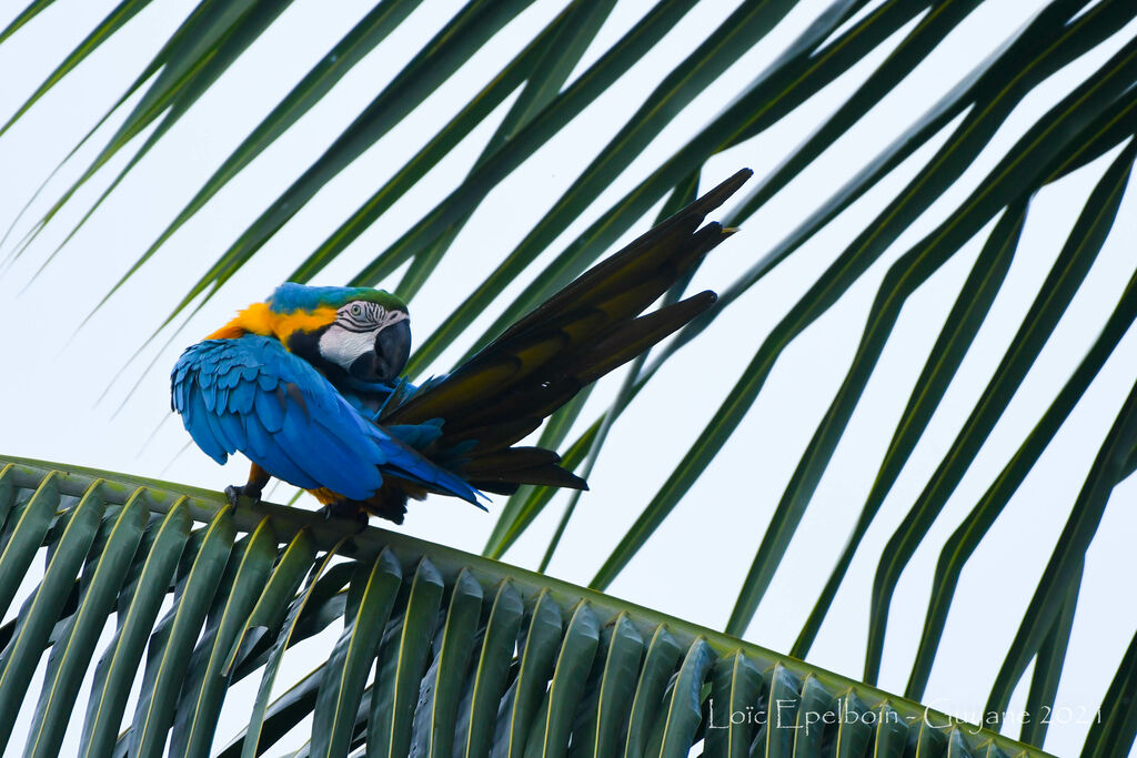
[[479, 490], [588, 489], [551, 450], [513, 445], [583, 386], [714, 305], [716, 295], [707, 291], [641, 315], [733, 232], [703, 220], [750, 174], [738, 172], [590, 268], [453, 374], [385, 409], [379, 423], [445, 419], [441, 435], [424, 452]]

